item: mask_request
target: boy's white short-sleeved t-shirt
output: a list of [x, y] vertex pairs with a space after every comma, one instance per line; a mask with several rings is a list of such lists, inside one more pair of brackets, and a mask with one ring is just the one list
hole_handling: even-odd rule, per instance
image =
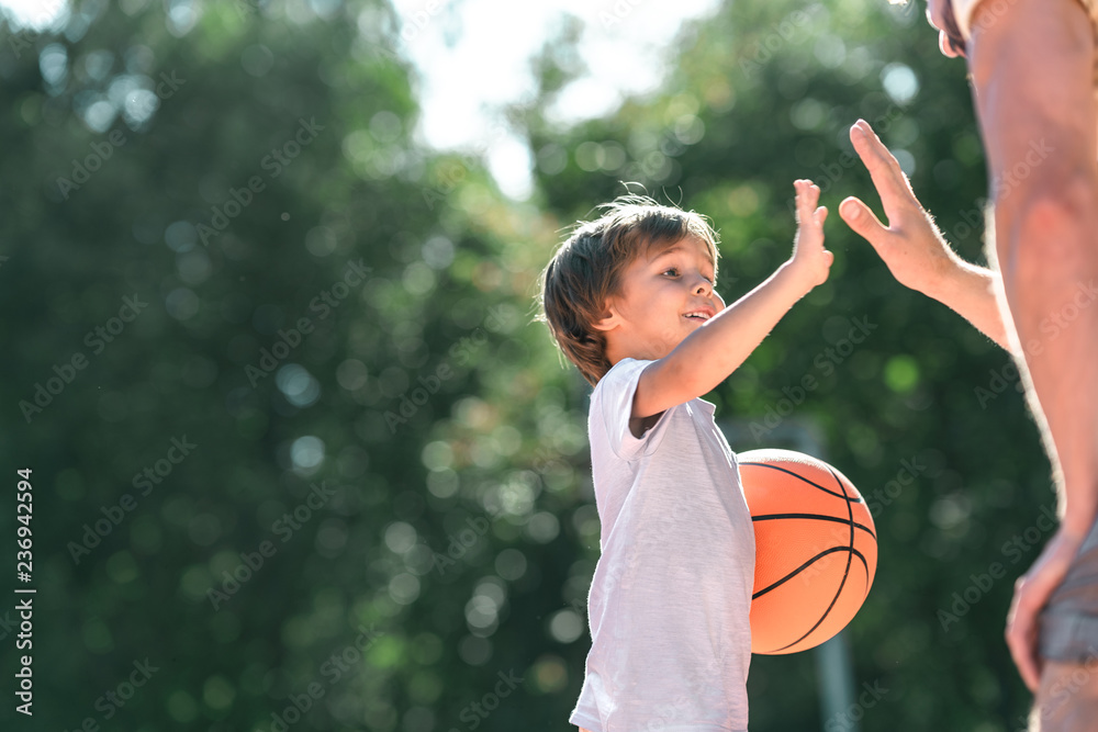
[[632, 396], [650, 363], [623, 359], [591, 394], [602, 556], [569, 722], [591, 732], [739, 732], [748, 728], [754, 584], [739, 463], [715, 406], [701, 398], [632, 436]]

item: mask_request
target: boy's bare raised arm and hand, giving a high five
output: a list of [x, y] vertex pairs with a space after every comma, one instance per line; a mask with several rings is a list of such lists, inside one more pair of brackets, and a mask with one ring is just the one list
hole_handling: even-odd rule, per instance
[[751, 356], [794, 303], [827, 281], [833, 261], [824, 248], [827, 209], [816, 207], [820, 190], [811, 181], [798, 180], [794, 187], [798, 229], [793, 256], [765, 282], [645, 369], [634, 395], [634, 418], [708, 394]]

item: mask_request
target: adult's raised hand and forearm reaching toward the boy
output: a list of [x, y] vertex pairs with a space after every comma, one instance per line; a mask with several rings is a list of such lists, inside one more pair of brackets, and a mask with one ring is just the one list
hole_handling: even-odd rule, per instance
[[1001, 286], [999, 273], [964, 261], [950, 248], [915, 198], [899, 162], [867, 122], [859, 120], [850, 128], [850, 142], [873, 178], [888, 226], [854, 196], [839, 204], [842, 219], [873, 245], [900, 284], [949, 306], [1011, 350], [996, 300], [996, 290]]

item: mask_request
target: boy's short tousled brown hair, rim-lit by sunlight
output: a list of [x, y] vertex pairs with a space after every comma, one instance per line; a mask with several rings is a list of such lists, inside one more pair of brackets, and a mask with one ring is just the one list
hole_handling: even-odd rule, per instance
[[638, 257], [648, 257], [693, 236], [704, 243], [717, 272], [717, 233], [694, 211], [660, 205], [646, 195], [620, 195], [597, 206], [596, 221], [576, 222], [541, 272], [541, 312], [558, 348], [592, 386], [610, 362], [606, 337], [594, 324], [605, 316], [606, 299], [620, 294], [623, 270]]

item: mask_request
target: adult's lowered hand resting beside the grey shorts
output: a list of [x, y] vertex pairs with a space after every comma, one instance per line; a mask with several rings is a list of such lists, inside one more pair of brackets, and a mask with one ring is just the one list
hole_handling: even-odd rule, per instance
[[1039, 617], [1049, 598], [1060, 587], [1067, 567], [1079, 552], [1084, 537], [1074, 537], [1061, 528], [1053, 534], [1030, 571], [1015, 583], [1015, 598], [1007, 615], [1007, 645], [1018, 672], [1030, 691], [1041, 684], [1041, 657], [1038, 647]]

